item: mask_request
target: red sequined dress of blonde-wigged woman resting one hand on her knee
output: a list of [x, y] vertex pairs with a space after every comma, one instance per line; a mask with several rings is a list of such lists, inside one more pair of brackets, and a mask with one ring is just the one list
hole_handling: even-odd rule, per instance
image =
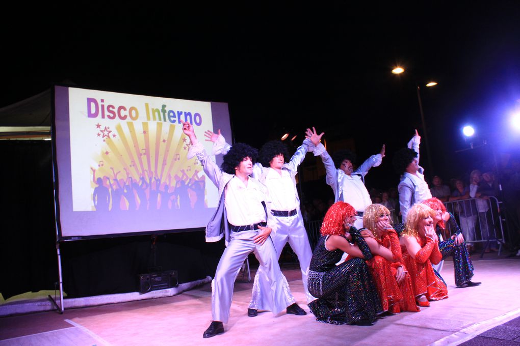
[[[399, 245], [397, 233], [393, 229], [388, 230], [383, 234], [381, 240], [376, 240], [382, 246], [390, 248], [394, 258], [394, 262], [391, 262], [381, 256], [374, 256], [367, 261], [375, 284], [378, 287], [383, 311], [390, 313], [420, 311], [417, 305], [415, 305], [410, 275], [406, 272], [406, 267], [402, 263], [401, 246]], [[397, 268], [400, 266], [406, 273], [405, 278], [398, 284], [395, 275], [397, 274]]]

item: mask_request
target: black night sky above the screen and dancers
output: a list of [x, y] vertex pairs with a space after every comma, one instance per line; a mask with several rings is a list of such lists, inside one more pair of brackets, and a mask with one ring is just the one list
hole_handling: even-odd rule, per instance
[[[301, 142], [316, 126], [324, 140], [353, 139], [361, 160], [386, 143], [367, 179], [384, 187], [398, 182], [392, 153], [415, 128], [424, 134], [416, 86], [433, 79], [437, 87], [421, 88], [430, 172], [463, 176], [491, 156], [489, 145], [456, 153], [469, 147], [460, 132], [469, 121], [475, 144], [518, 155], [520, 133], [507, 124], [520, 109], [517, 1], [280, 3], [5, 13], [0, 107], [53, 84], [227, 102], [237, 142], [259, 147], [284, 132]], [[406, 72], [392, 75], [398, 64]]]

